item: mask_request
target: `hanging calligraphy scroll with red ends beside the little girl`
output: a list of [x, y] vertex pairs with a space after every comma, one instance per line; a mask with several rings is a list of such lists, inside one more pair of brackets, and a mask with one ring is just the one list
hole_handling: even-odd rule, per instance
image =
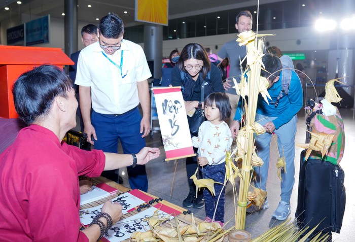
[[153, 88], [165, 160], [195, 156], [180, 87]]

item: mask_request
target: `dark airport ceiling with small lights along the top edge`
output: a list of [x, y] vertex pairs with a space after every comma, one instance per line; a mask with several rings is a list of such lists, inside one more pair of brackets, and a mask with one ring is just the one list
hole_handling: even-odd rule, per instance
[[[24, 15], [35, 19], [36, 16], [50, 14], [53, 18], [64, 19], [62, 16], [64, 0], [21, 0], [21, 4], [17, 2], [17, 0], [0, 0], [0, 22], [12, 19], [15, 25], [21, 24], [19, 16]], [[257, 0], [170, 0], [169, 19], [246, 7], [257, 3]], [[88, 7], [89, 5], [91, 7]], [[122, 18], [126, 26], [131, 26], [137, 24], [134, 22], [134, 5], [135, 0], [78, 0], [78, 21], [96, 23], [96, 18], [114, 12]], [[9, 10], [5, 10], [6, 7]]]

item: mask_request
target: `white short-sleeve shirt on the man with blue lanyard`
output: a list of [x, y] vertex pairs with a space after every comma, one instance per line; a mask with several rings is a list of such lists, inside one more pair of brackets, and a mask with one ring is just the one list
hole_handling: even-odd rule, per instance
[[[121, 75], [118, 66], [121, 66], [122, 52]], [[97, 42], [80, 52], [75, 84], [91, 87], [91, 105], [95, 112], [122, 114], [139, 104], [137, 82], [151, 76], [146, 55], [139, 45], [122, 40], [121, 49], [109, 55]]]

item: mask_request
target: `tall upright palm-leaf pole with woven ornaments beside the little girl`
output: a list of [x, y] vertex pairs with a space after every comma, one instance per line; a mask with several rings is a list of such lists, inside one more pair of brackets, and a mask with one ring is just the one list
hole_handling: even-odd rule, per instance
[[[244, 101], [245, 105], [245, 126], [241, 127], [238, 133], [237, 144], [238, 153], [237, 158], [242, 160], [241, 176], [240, 180], [237, 213], [235, 221], [235, 229], [245, 228], [245, 216], [246, 216], [246, 204], [248, 197], [248, 189], [251, 181], [252, 161], [253, 164], [262, 164], [262, 161], [255, 154], [255, 134], [265, 132], [261, 125], [255, 123], [256, 109], [258, 103], [258, 95], [262, 92], [262, 96], [266, 99], [269, 96], [267, 92], [267, 81], [262, 80], [260, 77], [261, 67], [263, 66], [262, 57], [264, 49], [264, 41], [257, 39], [257, 34], [253, 31], [246, 31], [238, 34], [237, 42], [239, 45], [246, 45], [246, 56], [243, 59], [246, 60], [246, 70], [242, 74], [241, 84], [238, 86], [240, 89], [240, 95], [245, 100], [246, 95], [248, 103]], [[247, 82], [244, 80], [244, 75], [247, 77]], [[266, 81], [266, 82], [265, 82]]]

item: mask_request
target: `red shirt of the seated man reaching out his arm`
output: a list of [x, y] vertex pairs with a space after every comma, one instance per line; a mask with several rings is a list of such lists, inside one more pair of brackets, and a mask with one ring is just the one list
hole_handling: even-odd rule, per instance
[[1, 241], [88, 241], [79, 232], [78, 175], [100, 176], [102, 151], [61, 144], [49, 129], [23, 128], [0, 155]]

